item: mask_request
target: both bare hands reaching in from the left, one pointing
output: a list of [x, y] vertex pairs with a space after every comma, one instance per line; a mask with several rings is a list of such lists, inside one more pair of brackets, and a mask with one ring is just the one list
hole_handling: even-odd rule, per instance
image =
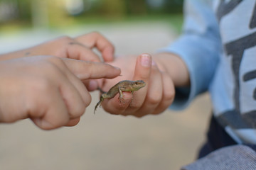
[[94, 79], [120, 74], [92, 48], [105, 62], [114, 59], [114, 47], [100, 33], [0, 55], [0, 123], [31, 118], [44, 130], [76, 125], [91, 101], [88, 91], [98, 86]]

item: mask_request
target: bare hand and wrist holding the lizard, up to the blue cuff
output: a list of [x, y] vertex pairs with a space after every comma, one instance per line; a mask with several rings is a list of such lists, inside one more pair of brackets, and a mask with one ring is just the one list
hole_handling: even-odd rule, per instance
[[121, 103], [118, 95], [103, 101], [102, 107], [111, 114], [134, 115], [140, 118], [162, 113], [174, 101], [174, 87], [190, 85], [186, 64], [171, 53], [159, 53], [153, 57], [148, 54], [117, 57], [109, 63], [122, 69], [122, 77], [105, 79], [102, 82], [103, 91], [124, 79], [140, 79], [146, 82], [146, 86], [135, 91], [133, 95], [124, 92]]

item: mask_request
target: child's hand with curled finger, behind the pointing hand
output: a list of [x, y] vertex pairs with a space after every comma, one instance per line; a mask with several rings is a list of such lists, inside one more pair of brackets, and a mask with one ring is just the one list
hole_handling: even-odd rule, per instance
[[95, 47], [101, 52], [105, 62], [111, 62], [114, 59], [114, 46], [105, 37], [100, 35], [100, 33], [94, 32], [78, 36], [77, 38], [62, 37], [44, 42], [35, 47], [2, 55], [0, 56], [0, 60], [36, 55], [52, 55], [76, 60], [100, 62], [100, 57], [92, 51]]

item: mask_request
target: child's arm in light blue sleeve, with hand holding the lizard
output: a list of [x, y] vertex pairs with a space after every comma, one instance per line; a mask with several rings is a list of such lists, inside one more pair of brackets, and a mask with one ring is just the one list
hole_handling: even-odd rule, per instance
[[[151, 63], [149, 57], [148, 63], [151, 64], [145, 67], [140, 62], [142, 56], [137, 61], [136, 57], [127, 56], [112, 63], [122, 69], [123, 77], [118, 77], [119, 80], [142, 79], [147, 86], [134, 92], [133, 99], [131, 94], [125, 93], [128, 104], [120, 105], [118, 96], [103, 102], [105, 111], [141, 117], [161, 113], [169, 106], [181, 109], [208, 89], [222, 50], [218, 22], [211, 3], [186, 1], [183, 35], [159, 50], [159, 54], [153, 55], [154, 62]], [[104, 85], [110, 87], [110, 81], [107, 80]]]

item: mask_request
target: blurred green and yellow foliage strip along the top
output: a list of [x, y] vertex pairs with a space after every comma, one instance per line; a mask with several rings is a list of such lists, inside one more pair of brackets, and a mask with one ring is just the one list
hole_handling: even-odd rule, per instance
[[[68, 1], [71, 7], [72, 3], [82, 1], [82, 11], [70, 13]], [[152, 5], [152, 2], [159, 1], [160, 6]], [[0, 0], [0, 29], [9, 26], [63, 27], [79, 23], [131, 21], [136, 18], [161, 20], [167, 16], [179, 16], [178, 19], [181, 19], [182, 5], [182, 0]], [[1, 8], [5, 10], [1, 11]]]

